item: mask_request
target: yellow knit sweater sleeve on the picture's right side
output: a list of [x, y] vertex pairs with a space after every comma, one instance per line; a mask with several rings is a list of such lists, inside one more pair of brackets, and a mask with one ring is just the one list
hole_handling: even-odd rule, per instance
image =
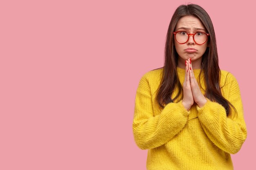
[[209, 139], [225, 152], [236, 154], [247, 137], [247, 130], [238, 82], [233, 75], [230, 79], [231, 83], [228, 83], [225, 91], [229, 93], [227, 100], [237, 110], [236, 115], [231, 107], [227, 117], [225, 108], [209, 99], [202, 108], [197, 106], [197, 110], [198, 119]]

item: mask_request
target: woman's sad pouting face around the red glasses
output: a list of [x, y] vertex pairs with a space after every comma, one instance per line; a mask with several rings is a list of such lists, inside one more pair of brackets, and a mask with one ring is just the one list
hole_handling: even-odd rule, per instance
[[[184, 27], [184, 28], [181, 28], [181, 27]], [[202, 22], [198, 18], [194, 16], [189, 16], [189, 15], [180, 18], [180, 20], [176, 24], [174, 31], [185, 31], [186, 33], [196, 33], [196, 32], [207, 33]], [[206, 48], [208, 45], [207, 42], [205, 42], [202, 45], [195, 44], [193, 40], [193, 36], [189, 36], [188, 42], [184, 44], [179, 44], [175, 40], [175, 38], [174, 38], [174, 42], [175, 42], [175, 49], [179, 55], [178, 65], [180, 64], [185, 65], [184, 64], [185, 60], [188, 60], [189, 58], [191, 58], [192, 62], [197, 63], [198, 66], [199, 64], [201, 64], [202, 55], [206, 51]], [[195, 51], [186, 51], [186, 49], [188, 48], [194, 48]]]

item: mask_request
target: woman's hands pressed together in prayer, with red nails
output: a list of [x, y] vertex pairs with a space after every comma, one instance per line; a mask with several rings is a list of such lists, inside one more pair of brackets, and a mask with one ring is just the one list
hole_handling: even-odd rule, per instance
[[198, 82], [193, 73], [191, 59], [185, 61], [186, 73], [183, 83], [183, 99], [182, 104], [189, 111], [194, 102], [201, 108], [206, 104], [207, 99], [202, 94]]

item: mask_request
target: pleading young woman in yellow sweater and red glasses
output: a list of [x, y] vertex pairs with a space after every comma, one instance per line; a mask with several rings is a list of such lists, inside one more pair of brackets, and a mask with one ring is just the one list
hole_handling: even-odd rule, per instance
[[147, 170], [232, 170], [247, 130], [238, 82], [220, 70], [213, 24], [202, 7], [173, 14], [164, 67], [145, 73], [132, 124]]

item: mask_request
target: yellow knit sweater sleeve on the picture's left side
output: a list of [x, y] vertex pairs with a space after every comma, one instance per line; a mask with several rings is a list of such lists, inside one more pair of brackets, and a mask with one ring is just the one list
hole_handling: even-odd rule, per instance
[[180, 101], [167, 104], [159, 115], [154, 116], [150, 86], [144, 75], [137, 88], [132, 123], [137, 146], [146, 150], [167, 143], [185, 126], [189, 113]]

